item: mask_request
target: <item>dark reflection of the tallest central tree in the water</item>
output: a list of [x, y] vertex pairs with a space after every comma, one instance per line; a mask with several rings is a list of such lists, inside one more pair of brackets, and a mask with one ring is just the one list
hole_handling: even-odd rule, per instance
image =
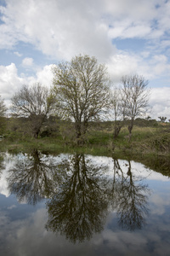
[[107, 210], [104, 179], [100, 167], [86, 160], [83, 154], [74, 154], [59, 168], [66, 168], [68, 177], [58, 194], [48, 201], [47, 228], [60, 231], [70, 241], [84, 241], [93, 232], [103, 229]]

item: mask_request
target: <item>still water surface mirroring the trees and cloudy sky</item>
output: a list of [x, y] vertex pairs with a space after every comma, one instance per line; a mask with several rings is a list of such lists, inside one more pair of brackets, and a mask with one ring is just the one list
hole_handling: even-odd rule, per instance
[[161, 170], [37, 150], [0, 157], [1, 256], [170, 255]]

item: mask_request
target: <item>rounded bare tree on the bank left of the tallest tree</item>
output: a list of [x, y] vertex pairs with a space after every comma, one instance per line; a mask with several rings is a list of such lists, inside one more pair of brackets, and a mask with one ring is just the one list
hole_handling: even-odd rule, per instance
[[31, 133], [37, 138], [43, 122], [52, 109], [53, 99], [47, 87], [33, 84], [30, 88], [23, 85], [11, 99], [12, 113], [15, 117], [24, 117], [30, 121]]

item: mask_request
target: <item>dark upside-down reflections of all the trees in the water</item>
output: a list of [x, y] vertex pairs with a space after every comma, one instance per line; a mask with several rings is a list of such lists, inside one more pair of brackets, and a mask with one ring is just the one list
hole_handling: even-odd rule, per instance
[[100, 232], [109, 209], [117, 212], [123, 228], [141, 229], [148, 212], [148, 188], [133, 176], [130, 161], [126, 172], [119, 160], [113, 163], [111, 176], [109, 166], [99, 166], [84, 154], [56, 160], [34, 150], [21, 154], [9, 171], [8, 188], [19, 201], [31, 204], [48, 197], [47, 229], [72, 242]]

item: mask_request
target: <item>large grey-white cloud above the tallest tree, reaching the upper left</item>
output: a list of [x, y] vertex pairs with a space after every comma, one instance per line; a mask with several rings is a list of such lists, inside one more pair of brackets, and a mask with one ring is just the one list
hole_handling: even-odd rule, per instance
[[[7, 1], [3, 9], [3, 41], [8, 36], [35, 44], [46, 55], [69, 59], [77, 52], [105, 58], [112, 51], [107, 26], [100, 21], [99, 6], [89, 1]], [[96, 20], [97, 17], [97, 20]], [[14, 35], [16, 33], [16, 36]], [[3, 47], [2, 42], [2, 47]]]

